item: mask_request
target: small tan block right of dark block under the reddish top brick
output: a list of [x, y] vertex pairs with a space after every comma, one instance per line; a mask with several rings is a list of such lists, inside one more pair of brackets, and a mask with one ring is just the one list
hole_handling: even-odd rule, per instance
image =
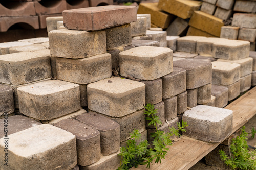
[[146, 34], [146, 18], [137, 17], [136, 22], [131, 22], [132, 37]]

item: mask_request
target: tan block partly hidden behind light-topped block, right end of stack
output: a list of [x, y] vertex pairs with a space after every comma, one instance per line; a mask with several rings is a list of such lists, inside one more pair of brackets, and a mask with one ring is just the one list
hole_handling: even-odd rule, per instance
[[240, 77], [244, 77], [252, 72], [253, 66], [253, 58], [246, 57], [240, 60], [222, 60], [218, 59], [217, 61], [230, 62], [230, 63], [238, 63], [240, 64]]

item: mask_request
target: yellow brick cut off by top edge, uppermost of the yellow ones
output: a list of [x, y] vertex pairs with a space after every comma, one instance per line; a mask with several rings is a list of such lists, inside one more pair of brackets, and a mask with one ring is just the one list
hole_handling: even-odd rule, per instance
[[201, 4], [201, 1], [159, 0], [158, 8], [182, 19], [187, 19], [191, 17], [193, 11], [199, 10]]

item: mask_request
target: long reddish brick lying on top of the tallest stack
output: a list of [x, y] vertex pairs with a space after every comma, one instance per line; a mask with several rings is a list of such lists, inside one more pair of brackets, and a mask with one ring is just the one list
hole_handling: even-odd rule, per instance
[[137, 20], [135, 6], [99, 6], [63, 11], [64, 26], [70, 30], [97, 31]]

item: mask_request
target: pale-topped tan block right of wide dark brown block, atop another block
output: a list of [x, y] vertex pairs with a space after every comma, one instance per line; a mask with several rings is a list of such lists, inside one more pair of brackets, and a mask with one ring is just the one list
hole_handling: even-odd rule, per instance
[[223, 61], [212, 62], [212, 84], [231, 85], [240, 78], [240, 64]]

